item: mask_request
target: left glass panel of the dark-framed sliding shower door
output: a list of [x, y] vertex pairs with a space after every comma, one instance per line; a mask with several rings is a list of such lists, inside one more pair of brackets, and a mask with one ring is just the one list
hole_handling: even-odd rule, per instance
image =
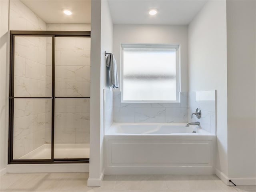
[[52, 159], [52, 36], [15, 36], [13, 160]]

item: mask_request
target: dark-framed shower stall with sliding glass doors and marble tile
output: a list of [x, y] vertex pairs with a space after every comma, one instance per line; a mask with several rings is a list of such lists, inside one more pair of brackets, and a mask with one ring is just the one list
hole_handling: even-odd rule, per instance
[[90, 31], [11, 31], [9, 164], [89, 162]]

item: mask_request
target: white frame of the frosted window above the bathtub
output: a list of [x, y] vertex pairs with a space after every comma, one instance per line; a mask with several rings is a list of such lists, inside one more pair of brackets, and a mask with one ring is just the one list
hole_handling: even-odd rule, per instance
[[[172, 48], [176, 50], [176, 100], [124, 100], [124, 48]], [[121, 44], [120, 50], [121, 103], [179, 103], [180, 102], [180, 44]]]

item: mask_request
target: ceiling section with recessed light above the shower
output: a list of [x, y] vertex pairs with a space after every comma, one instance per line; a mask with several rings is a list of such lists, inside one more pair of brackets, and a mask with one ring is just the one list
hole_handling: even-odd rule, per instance
[[[46, 23], [91, 23], [90, 0], [21, 0]], [[68, 16], [64, 9], [72, 11]]]

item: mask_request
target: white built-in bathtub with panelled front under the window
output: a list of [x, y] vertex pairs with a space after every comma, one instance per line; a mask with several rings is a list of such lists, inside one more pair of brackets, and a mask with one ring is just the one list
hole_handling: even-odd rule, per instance
[[185, 124], [113, 123], [105, 174], [214, 174], [216, 136]]

